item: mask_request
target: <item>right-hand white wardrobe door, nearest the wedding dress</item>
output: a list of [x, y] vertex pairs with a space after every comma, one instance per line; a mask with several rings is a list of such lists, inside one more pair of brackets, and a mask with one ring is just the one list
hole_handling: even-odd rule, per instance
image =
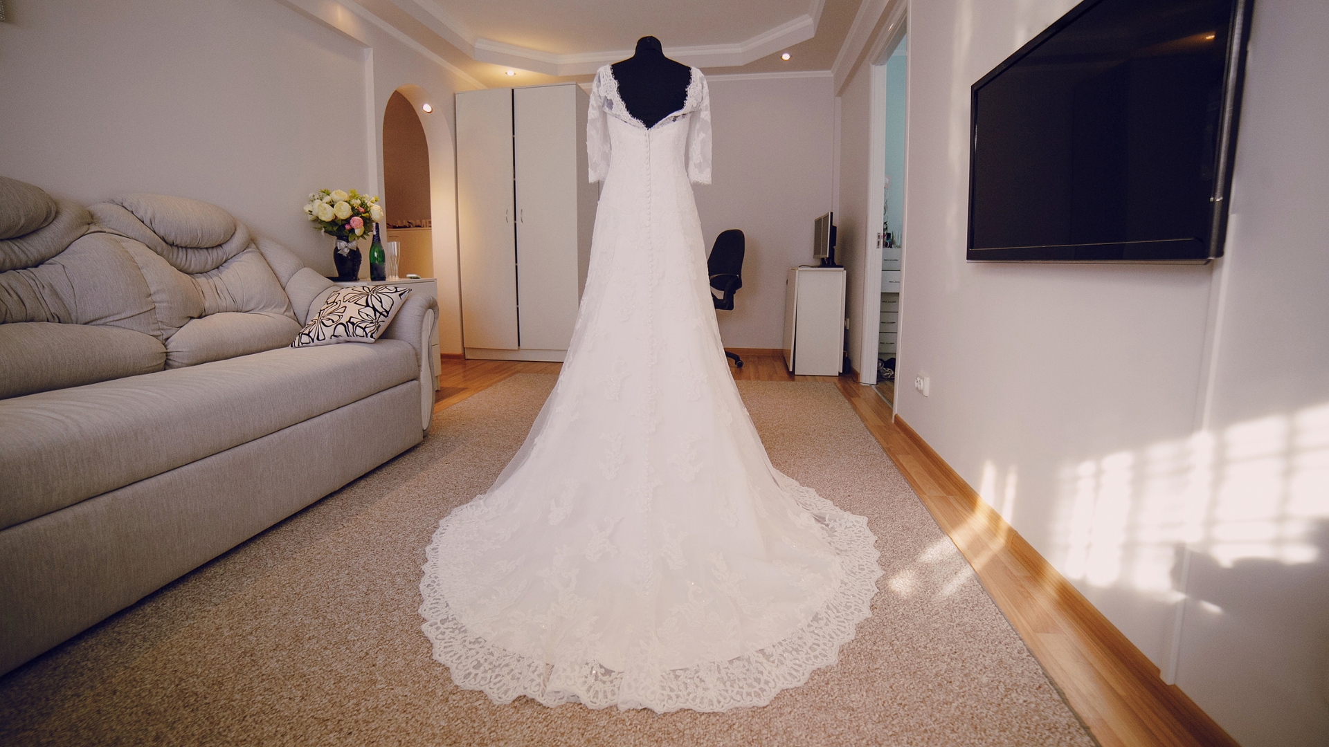
[[577, 323], [577, 153], [585, 145], [575, 92], [575, 85], [518, 88], [513, 97], [522, 348], [567, 350]]

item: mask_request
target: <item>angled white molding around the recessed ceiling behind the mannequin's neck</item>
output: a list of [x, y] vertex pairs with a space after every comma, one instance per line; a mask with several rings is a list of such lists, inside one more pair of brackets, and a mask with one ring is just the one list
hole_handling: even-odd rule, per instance
[[[556, 54], [540, 49], [517, 47], [482, 39], [465, 24], [452, 16], [439, 0], [391, 0], [429, 31], [461, 49], [480, 62], [505, 65], [544, 73], [549, 76], [583, 76], [594, 73], [602, 65], [617, 62], [633, 56], [631, 49], [606, 52], [582, 52], [577, 54]], [[704, 47], [666, 47], [670, 57], [696, 68], [731, 68], [760, 60], [772, 52], [792, 47], [812, 39], [821, 20], [825, 0], [811, 0], [808, 12], [769, 31], [762, 32], [736, 44], [712, 44]]]

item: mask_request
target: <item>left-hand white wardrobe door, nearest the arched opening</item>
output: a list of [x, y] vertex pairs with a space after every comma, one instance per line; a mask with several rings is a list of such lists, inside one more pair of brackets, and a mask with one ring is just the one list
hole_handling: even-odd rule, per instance
[[457, 94], [457, 242], [466, 348], [516, 350], [512, 89]]

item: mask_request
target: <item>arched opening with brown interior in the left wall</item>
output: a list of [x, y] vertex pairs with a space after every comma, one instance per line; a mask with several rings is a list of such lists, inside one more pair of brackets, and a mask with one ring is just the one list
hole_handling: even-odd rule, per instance
[[433, 278], [429, 145], [420, 116], [401, 92], [392, 93], [383, 112], [383, 241], [397, 242], [396, 276]]

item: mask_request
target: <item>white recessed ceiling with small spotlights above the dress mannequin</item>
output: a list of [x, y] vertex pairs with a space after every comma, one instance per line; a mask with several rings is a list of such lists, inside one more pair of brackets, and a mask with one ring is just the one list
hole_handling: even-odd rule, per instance
[[[344, 0], [343, 0], [344, 1]], [[828, 70], [863, 0], [351, 0], [482, 85], [589, 80], [655, 36], [715, 72]], [[789, 52], [791, 60], [779, 58]], [[512, 69], [517, 76], [504, 76]], [[521, 78], [521, 80], [514, 80]]]

